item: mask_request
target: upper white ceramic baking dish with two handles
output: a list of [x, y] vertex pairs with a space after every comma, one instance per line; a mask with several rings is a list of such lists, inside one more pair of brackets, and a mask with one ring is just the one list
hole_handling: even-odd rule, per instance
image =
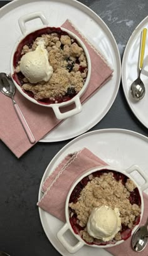
[[[40, 18], [43, 25], [40, 26], [40, 28], [38, 29], [33, 29], [33, 30], [29, 30], [26, 28], [26, 22], [27, 21], [31, 21], [33, 19], [36, 18]], [[19, 23], [19, 27], [21, 29], [22, 32], [22, 36], [19, 38], [19, 40], [16, 42], [16, 45], [14, 45], [14, 50], [13, 53], [11, 55], [11, 77], [13, 78], [13, 74], [14, 74], [14, 65], [13, 65], [13, 61], [14, 61], [14, 54], [16, 53], [16, 50], [18, 49], [19, 44], [21, 43], [22, 40], [24, 40], [26, 38], [26, 36], [28, 36], [29, 34], [36, 32], [42, 28], [49, 28], [50, 25], [48, 23], [48, 20], [45, 18], [45, 16], [43, 15], [43, 13], [38, 12], [38, 13], [31, 13], [31, 14], [26, 14], [24, 16], [22, 16], [21, 18], [19, 18], [18, 20]], [[71, 117], [72, 115], [78, 114], [79, 112], [82, 111], [82, 104], [80, 102], [80, 97], [82, 97], [83, 93], [85, 92], [85, 90], [87, 90], [88, 87], [88, 83], [90, 81], [90, 75], [91, 75], [91, 60], [90, 60], [90, 55], [88, 53], [88, 50], [86, 48], [86, 46], [84, 45], [84, 43], [82, 42], [82, 40], [80, 40], [80, 38], [78, 38], [77, 35], [75, 35], [74, 33], [72, 33], [71, 31], [69, 31], [68, 29], [65, 28], [61, 28], [60, 29], [62, 31], [65, 31], [66, 33], [68, 33], [68, 35], [70, 35], [71, 38], [75, 39], [78, 44], [83, 48], [83, 50], [85, 51], [85, 55], [87, 57], [87, 64], [88, 64], [88, 73], [87, 73], [87, 78], [85, 80], [85, 84], [83, 85], [83, 88], [80, 90], [80, 92], [78, 92], [77, 95], [75, 95], [75, 97], [73, 97], [72, 99], [66, 101], [66, 102], [61, 102], [58, 104], [40, 104], [40, 102], [38, 102], [37, 100], [33, 99], [33, 97], [29, 97], [28, 94], [26, 94], [25, 92], [23, 92], [22, 88], [20, 85], [18, 85], [18, 83], [14, 80], [13, 78], [13, 82], [14, 85], [16, 86], [16, 88], [19, 90], [19, 92], [28, 100], [30, 100], [31, 102], [33, 102], [34, 104], [38, 104], [41, 105], [42, 107], [50, 107], [51, 109], [53, 109], [53, 111], [55, 112], [56, 118], [57, 119], [66, 119], [68, 117]], [[66, 112], [61, 112], [60, 108], [61, 107], [66, 107], [68, 105], [71, 104], [75, 104], [75, 106], [73, 107], [73, 109], [71, 110], [67, 110]]]

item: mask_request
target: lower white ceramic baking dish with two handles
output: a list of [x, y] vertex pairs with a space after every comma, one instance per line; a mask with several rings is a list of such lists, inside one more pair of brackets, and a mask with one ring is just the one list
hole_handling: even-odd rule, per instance
[[[66, 204], [65, 204], [65, 216], [66, 216], [66, 223], [65, 225], [61, 228], [61, 230], [57, 233], [57, 237], [58, 239], [60, 240], [60, 242], [63, 244], [63, 246], [66, 248], [66, 250], [68, 250], [68, 252], [70, 253], [75, 253], [77, 252], [78, 250], [80, 250], [80, 248], [82, 248], [84, 245], [87, 245], [87, 246], [91, 246], [91, 247], [97, 247], [97, 248], [108, 248], [108, 247], [114, 247], [116, 245], [119, 245], [120, 243], [123, 243], [125, 240], [120, 240], [120, 241], [117, 241], [116, 243], [114, 244], [107, 244], [107, 245], [88, 245], [88, 243], [85, 243], [85, 241], [80, 237], [80, 235], [77, 235], [74, 231], [73, 231], [73, 228], [71, 227], [71, 224], [70, 224], [70, 220], [69, 220], [69, 210], [68, 210], [68, 203], [69, 203], [69, 200], [70, 200], [70, 195], [73, 191], [73, 189], [75, 188], [75, 186], [86, 176], [88, 176], [89, 174], [92, 174], [94, 173], [95, 171], [102, 171], [103, 169], [108, 169], [110, 171], [117, 171], [119, 173], [122, 173], [124, 174], [125, 176], [127, 176], [128, 178], [130, 178], [132, 181], [134, 181], [135, 185], [137, 186], [138, 190], [139, 190], [139, 194], [140, 194], [140, 199], [141, 199], [141, 213], [140, 213], [140, 220], [142, 219], [142, 215], [143, 215], [143, 212], [144, 212], [144, 200], [143, 200], [143, 195], [142, 195], [142, 191], [144, 191], [144, 189], [148, 188], [148, 177], [147, 175], [144, 173], [144, 171], [142, 171], [142, 169], [139, 168], [139, 166], [137, 165], [134, 165], [134, 166], [131, 166], [130, 168], [128, 169], [125, 169], [125, 171], [121, 171], [120, 169], [117, 169], [117, 168], [112, 168], [110, 166], [98, 166], [96, 168], [92, 168], [90, 170], [88, 170], [85, 174], [83, 174], [80, 178], [77, 179], [77, 181], [75, 181], [75, 183], [73, 184], [73, 186], [71, 186], [71, 189], [68, 193], [68, 196], [66, 198]], [[144, 181], [145, 183], [142, 184], [142, 186], [139, 186], [135, 180], [132, 178], [132, 176], [130, 175], [130, 173], [134, 172], [134, 171], [137, 171], [140, 176], [142, 176], [142, 178], [144, 178]], [[140, 222], [139, 222], [140, 224]], [[135, 232], [135, 230], [137, 229], [137, 227], [139, 226], [138, 225], [135, 225], [135, 227], [132, 229], [132, 233], [131, 235]], [[66, 238], [64, 237], [65, 233], [67, 230], [70, 230], [71, 233], [77, 238], [78, 240], [78, 243], [73, 246], [73, 245], [70, 245], [70, 243], [66, 240]]]

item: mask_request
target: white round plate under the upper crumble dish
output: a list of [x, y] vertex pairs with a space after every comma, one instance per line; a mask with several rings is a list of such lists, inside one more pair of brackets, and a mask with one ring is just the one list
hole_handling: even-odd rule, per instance
[[[15, 0], [0, 9], [0, 70], [10, 72], [10, 56], [14, 43], [21, 36], [18, 19], [26, 13], [41, 11], [51, 26], [61, 26], [69, 18], [97, 50], [105, 56], [114, 69], [112, 80], [104, 85], [82, 106], [82, 112], [61, 122], [41, 142], [65, 141], [91, 129], [107, 114], [119, 90], [121, 63], [114, 36], [107, 25], [84, 4], [75, 0]], [[11, 28], [10, 28], [11, 21]], [[27, 26], [35, 28], [40, 20]], [[6, 31], [9, 31], [9, 33]], [[11, 38], [11, 43], [9, 43]]]

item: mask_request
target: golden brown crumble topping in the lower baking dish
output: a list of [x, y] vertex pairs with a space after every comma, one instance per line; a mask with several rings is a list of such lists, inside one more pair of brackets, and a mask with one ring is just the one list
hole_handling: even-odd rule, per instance
[[[140, 207], [132, 205], [129, 201], [130, 192], [136, 188], [133, 181], [127, 179], [127, 182], [122, 184], [122, 181], [117, 181], [112, 172], [103, 173], [100, 177], [93, 178], [89, 176], [90, 181], [85, 188], [82, 189], [78, 201], [69, 203], [69, 207], [75, 210], [78, 219], [78, 225], [86, 227], [88, 218], [93, 208], [103, 205], [114, 208], [119, 208], [121, 223], [129, 228], [134, 225], [136, 216], [140, 214]], [[87, 242], [93, 242], [93, 238], [87, 233], [87, 228], [81, 230], [81, 235]], [[120, 240], [120, 232], [115, 235], [115, 240]]]

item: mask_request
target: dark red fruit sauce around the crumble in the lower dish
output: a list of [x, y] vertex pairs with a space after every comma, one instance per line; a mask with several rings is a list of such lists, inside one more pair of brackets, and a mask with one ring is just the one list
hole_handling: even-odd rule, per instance
[[[103, 173], [110, 173], [113, 172], [114, 174], [114, 178], [119, 181], [122, 180], [122, 184], [125, 186], [125, 183], [127, 181], [127, 179], [129, 179], [129, 177], [125, 176], [122, 173], [119, 173], [117, 171], [111, 171], [108, 169], [103, 169], [102, 171], [95, 171], [95, 173], [92, 173], [93, 178], [95, 177], [100, 177]], [[80, 196], [80, 192], [82, 191], [82, 189], [87, 185], [88, 181], [90, 181], [90, 179], [88, 178], [88, 176], [86, 176], [85, 178], [83, 178], [73, 189], [71, 196], [70, 196], [70, 200], [69, 203], [76, 203], [79, 196]], [[130, 192], [130, 196], [129, 196], [129, 201], [130, 203], [133, 205], [134, 203], [137, 205], [141, 205], [141, 199], [140, 199], [140, 194], [139, 194], [139, 190], [137, 188], [134, 189], [134, 191]], [[70, 213], [73, 213], [73, 216], [70, 217], [70, 224], [71, 227], [73, 228], [73, 231], [77, 234], [80, 235], [80, 230], [84, 230], [85, 227], [80, 227], [80, 225], [78, 225], [77, 223], [77, 214], [75, 213], [75, 210], [71, 210], [71, 208], [69, 208]], [[134, 226], [138, 225], [140, 222], [140, 215], [137, 216], [135, 218], [134, 221]], [[122, 240], [127, 240], [127, 238], [130, 237], [132, 233], [132, 229], [130, 229], [129, 227], [122, 225], [122, 230], [120, 232]], [[88, 243], [87, 241], [85, 241], [88, 245], [108, 245], [108, 244], [114, 244], [117, 241], [115, 241], [114, 239], [112, 241], [108, 241], [108, 242], [92, 242], [92, 243]]]

